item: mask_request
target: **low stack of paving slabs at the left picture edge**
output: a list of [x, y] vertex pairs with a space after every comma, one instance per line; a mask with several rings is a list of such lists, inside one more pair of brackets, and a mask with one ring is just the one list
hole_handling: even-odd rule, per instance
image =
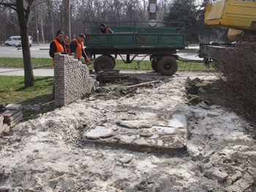
[[23, 118], [21, 104], [0, 104], [0, 134]]

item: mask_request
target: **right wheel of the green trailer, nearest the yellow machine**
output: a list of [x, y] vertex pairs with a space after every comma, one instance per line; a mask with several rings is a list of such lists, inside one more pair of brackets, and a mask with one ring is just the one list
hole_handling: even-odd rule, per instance
[[159, 60], [157, 69], [162, 75], [173, 75], [178, 70], [178, 64], [175, 58], [165, 56]]

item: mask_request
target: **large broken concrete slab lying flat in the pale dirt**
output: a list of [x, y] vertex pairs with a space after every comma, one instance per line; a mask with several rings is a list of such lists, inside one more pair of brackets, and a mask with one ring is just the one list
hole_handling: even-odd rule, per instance
[[[86, 131], [83, 139], [95, 145], [123, 147], [148, 153], [182, 155], [187, 151], [187, 120], [184, 115], [173, 115], [173, 121], [170, 123], [173, 126], [146, 127], [145, 125], [149, 125], [151, 120], [124, 120], [122, 122], [127, 127], [119, 126], [121, 123], [117, 125], [105, 123], [100, 128], [91, 128]], [[136, 122], [138, 124], [143, 122], [144, 126], [136, 126]]]

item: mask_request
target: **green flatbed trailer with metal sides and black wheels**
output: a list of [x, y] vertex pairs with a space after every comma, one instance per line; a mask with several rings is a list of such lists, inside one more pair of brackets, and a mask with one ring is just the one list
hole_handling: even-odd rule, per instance
[[105, 23], [114, 34], [99, 34], [100, 22], [85, 21], [85, 51], [95, 59], [95, 72], [114, 69], [119, 55], [127, 64], [137, 57], [149, 56], [156, 72], [175, 74], [178, 69], [177, 50], [185, 47], [184, 23], [150, 22]]

